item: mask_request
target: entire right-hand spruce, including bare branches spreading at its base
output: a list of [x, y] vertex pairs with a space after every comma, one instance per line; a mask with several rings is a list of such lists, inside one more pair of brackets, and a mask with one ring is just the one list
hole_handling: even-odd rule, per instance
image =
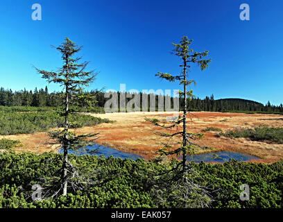
[[[171, 166], [169, 171], [166, 171], [163, 176], [159, 177], [161, 178], [161, 182], [157, 185], [158, 188], [155, 190], [158, 193], [155, 198], [159, 200], [162, 200], [162, 198], [171, 198], [172, 200], [176, 200], [176, 203], [180, 203], [180, 205], [173, 207], [205, 207], [209, 199], [207, 191], [194, 182], [194, 178], [197, 174], [196, 171], [187, 164], [187, 155], [194, 154], [196, 148], [207, 148], [194, 142], [196, 139], [203, 137], [203, 134], [189, 133], [187, 129], [187, 103], [193, 97], [193, 91], [188, 90], [187, 87], [195, 83], [194, 80], [189, 80], [189, 71], [191, 71], [193, 65], [199, 65], [200, 69], [204, 70], [208, 67], [209, 62], [211, 62], [210, 59], [205, 59], [208, 55], [208, 51], [198, 53], [189, 48], [192, 42], [193, 40], [189, 40], [187, 36], [184, 36], [179, 44], [173, 43], [173, 54], [178, 56], [182, 61], [180, 65], [182, 71], [180, 74], [173, 76], [168, 73], [158, 72], [155, 75], [162, 79], [169, 80], [170, 82], [178, 82], [182, 85], [183, 91], [179, 91], [183, 103], [182, 115], [179, 115], [178, 119], [171, 121], [160, 121], [160, 119], [156, 118], [147, 119], [161, 129], [170, 130], [170, 133], [157, 133], [157, 135], [166, 138], [166, 142], [163, 143], [164, 146], [160, 148], [160, 160], [170, 155], [182, 155], [181, 162], [175, 164], [175, 167]], [[178, 131], [178, 126], [181, 124], [182, 130]], [[175, 137], [179, 137], [179, 139], [177, 139], [178, 142], [171, 142]]]

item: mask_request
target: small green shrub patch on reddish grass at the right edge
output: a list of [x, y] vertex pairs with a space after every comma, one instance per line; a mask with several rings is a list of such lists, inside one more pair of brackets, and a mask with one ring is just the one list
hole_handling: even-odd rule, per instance
[[283, 128], [280, 127], [259, 126], [255, 129], [241, 128], [228, 130], [226, 133], [221, 133], [221, 135], [230, 138], [250, 138], [255, 141], [270, 140], [272, 142], [283, 144]]

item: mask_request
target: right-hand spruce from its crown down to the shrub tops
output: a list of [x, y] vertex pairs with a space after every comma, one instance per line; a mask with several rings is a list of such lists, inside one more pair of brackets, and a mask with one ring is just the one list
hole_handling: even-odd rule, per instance
[[[208, 51], [204, 51], [202, 53], [194, 52], [193, 49], [190, 49], [189, 46], [193, 40], [189, 40], [187, 36], [182, 37], [182, 40], [179, 44], [174, 44], [173, 46], [175, 49], [173, 49], [173, 54], [175, 56], [178, 56], [180, 60], [182, 61], [182, 64], [180, 67], [182, 67], [182, 71], [180, 74], [177, 74], [175, 76], [168, 74], [168, 73], [162, 73], [158, 72], [155, 76], [158, 76], [160, 78], [163, 78], [165, 80], [169, 80], [169, 82], [179, 82], [180, 85], [183, 87], [183, 91], [180, 90], [179, 94], [182, 98], [181, 101], [183, 102], [182, 105], [182, 117], [179, 116], [179, 118], [176, 121], [173, 121], [173, 123], [168, 126], [167, 122], [160, 123], [157, 119], [148, 119], [152, 123], [154, 123], [156, 126], [160, 126], [165, 129], [172, 129], [175, 128], [175, 126], [178, 126], [179, 124], [182, 124], [182, 131], [177, 133], [161, 133], [162, 137], [169, 137], [170, 139], [175, 136], [181, 136], [182, 142], [180, 143], [180, 147], [175, 148], [173, 151], [169, 151], [172, 149], [172, 147], [169, 144], [165, 144], [164, 148], [160, 150], [162, 155], [168, 156], [168, 155], [182, 155], [182, 171], [185, 171], [186, 162], [187, 162], [187, 155], [188, 153], [192, 153], [194, 151], [194, 147], [198, 146], [193, 142], [193, 140], [198, 139], [203, 136], [203, 134], [200, 133], [189, 133], [187, 130], [187, 107], [188, 107], [188, 101], [193, 98], [193, 91], [188, 90], [188, 85], [191, 85], [192, 83], [195, 83], [194, 80], [189, 80], [189, 71], [191, 71], [191, 68], [193, 65], [199, 65], [201, 70], [204, 70], [208, 67], [209, 62], [211, 62], [210, 59], [205, 59], [205, 57], [208, 55]], [[199, 148], [203, 148], [201, 146], [198, 146]]]

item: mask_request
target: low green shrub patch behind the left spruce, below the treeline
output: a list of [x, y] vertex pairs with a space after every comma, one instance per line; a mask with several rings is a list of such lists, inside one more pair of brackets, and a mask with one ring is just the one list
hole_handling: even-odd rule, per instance
[[[71, 114], [71, 128], [93, 126], [108, 119], [84, 114]], [[0, 135], [44, 132], [64, 126], [65, 119], [58, 112], [3, 112], [0, 111]]]

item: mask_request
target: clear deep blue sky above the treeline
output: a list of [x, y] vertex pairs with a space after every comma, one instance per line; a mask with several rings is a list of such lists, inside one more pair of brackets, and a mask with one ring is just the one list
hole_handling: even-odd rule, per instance
[[[31, 19], [40, 3], [42, 21]], [[241, 21], [241, 3], [250, 5], [250, 21]], [[57, 46], [65, 37], [83, 45], [89, 69], [100, 71], [89, 89], [178, 89], [155, 77], [178, 74], [172, 42], [182, 35], [196, 51], [208, 50], [209, 69], [190, 73], [203, 98], [242, 98], [279, 105], [283, 102], [282, 0], [2, 0], [0, 2], [0, 86], [45, 87], [33, 69], [56, 71]], [[59, 87], [49, 85], [51, 91]]]

